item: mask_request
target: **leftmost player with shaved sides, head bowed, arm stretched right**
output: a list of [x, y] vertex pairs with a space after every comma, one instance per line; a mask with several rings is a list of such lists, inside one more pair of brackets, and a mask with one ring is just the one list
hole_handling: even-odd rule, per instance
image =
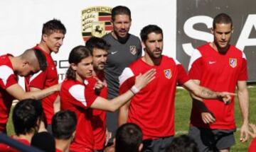
[[18, 57], [11, 54], [0, 56], [0, 132], [6, 132], [6, 123], [14, 99], [39, 100], [59, 90], [60, 86], [55, 85], [42, 91], [26, 93], [18, 84], [18, 76], [28, 76], [39, 70], [44, 71], [46, 66], [46, 57], [36, 49], [27, 49]]

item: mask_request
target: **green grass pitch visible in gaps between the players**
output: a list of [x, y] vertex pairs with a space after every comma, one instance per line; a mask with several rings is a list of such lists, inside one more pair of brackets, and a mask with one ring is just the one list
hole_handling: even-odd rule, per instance
[[[256, 124], [256, 87], [248, 88], [250, 93], [250, 122]], [[176, 133], [186, 134], [189, 126], [189, 118], [191, 112], [191, 98], [188, 95], [188, 91], [184, 89], [177, 89], [176, 91], [176, 103], [175, 103], [175, 127]], [[237, 127], [240, 128], [242, 124], [242, 118], [240, 115], [240, 110], [238, 106], [238, 99], [235, 100], [235, 121]], [[12, 135], [14, 133], [14, 127], [12, 125], [11, 119], [7, 124], [7, 134]], [[250, 141], [247, 141], [245, 144], [240, 143], [240, 131], [235, 132], [236, 144], [231, 148], [231, 151], [242, 152], [247, 151], [247, 147], [250, 144]]]

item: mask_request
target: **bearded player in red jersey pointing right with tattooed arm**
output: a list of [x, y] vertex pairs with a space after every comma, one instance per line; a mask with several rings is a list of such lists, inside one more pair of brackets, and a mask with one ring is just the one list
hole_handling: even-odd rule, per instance
[[[149, 69], [156, 69], [156, 78], [119, 110], [119, 125], [132, 122], [143, 132], [144, 151], [165, 151], [174, 138], [174, 99], [179, 83], [201, 98], [220, 98], [227, 102], [232, 93], [217, 93], [198, 86], [183, 66], [162, 55], [163, 32], [157, 25], [147, 25], [140, 33], [145, 55], [125, 68], [119, 76], [120, 92], [134, 85], [134, 78]], [[221, 101], [220, 101], [221, 102]]]

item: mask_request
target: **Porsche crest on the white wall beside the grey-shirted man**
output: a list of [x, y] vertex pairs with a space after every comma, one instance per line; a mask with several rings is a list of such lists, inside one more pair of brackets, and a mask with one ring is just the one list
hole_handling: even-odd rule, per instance
[[90, 37], [102, 37], [113, 29], [111, 7], [92, 6], [82, 10], [82, 38], [86, 42]]

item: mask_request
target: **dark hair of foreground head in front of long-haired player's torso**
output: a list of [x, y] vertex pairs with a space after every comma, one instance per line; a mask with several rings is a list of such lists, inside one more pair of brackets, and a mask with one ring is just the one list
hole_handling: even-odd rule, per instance
[[52, 119], [53, 136], [55, 139], [70, 139], [76, 124], [75, 112], [64, 110], [55, 113]]

